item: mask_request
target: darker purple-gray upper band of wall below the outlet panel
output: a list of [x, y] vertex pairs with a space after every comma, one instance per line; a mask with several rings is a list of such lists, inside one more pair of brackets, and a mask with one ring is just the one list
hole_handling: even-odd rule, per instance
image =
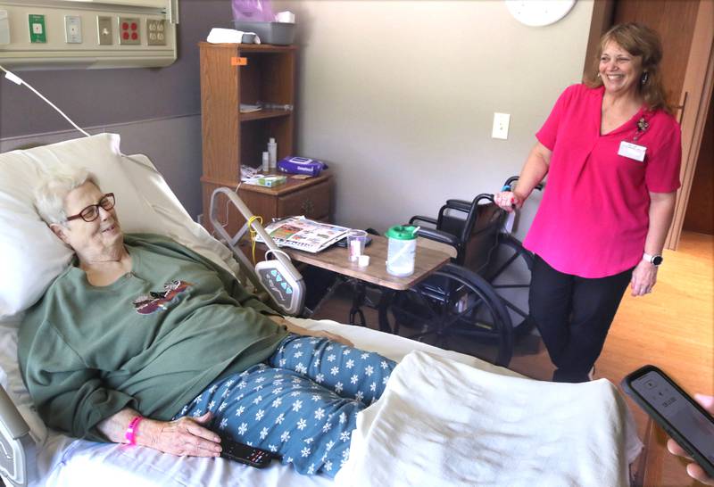
[[[228, 0], [179, 2], [179, 59], [162, 69], [18, 71], [82, 127], [200, 113], [198, 48], [211, 27], [229, 27]], [[0, 137], [67, 128], [26, 87], [0, 80]]]

